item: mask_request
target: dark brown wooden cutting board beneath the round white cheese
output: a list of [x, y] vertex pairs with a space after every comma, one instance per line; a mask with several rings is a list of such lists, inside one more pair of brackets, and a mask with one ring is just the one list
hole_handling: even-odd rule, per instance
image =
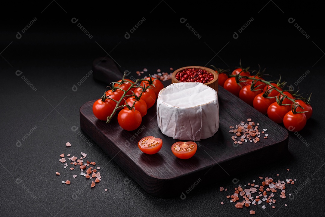
[[[171, 80], [163, 83], [167, 86]], [[179, 140], [165, 136], [158, 128], [156, 104], [149, 108], [137, 130], [125, 131], [119, 126], [117, 115], [109, 124], [94, 116], [92, 105], [95, 100], [80, 108], [81, 129], [141, 187], [157, 197], [186, 195], [196, 185], [214, 183], [243, 172], [250, 168], [249, 163], [259, 162], [266, 156], [272, 156], [273, 160], [281, 158], [288, 150], [288, 132], [283, 127], [222, 87], [218, 92], [219, 130], [214, 136], [198, 141], [196, 154], [188, 160], [173, 155], [171, 146]], [[247, 122], [248, 118], [259, 123], [260, 131], [267, 129], [268, 138], [264, 139], [264, 134], [261, 134], [257, 143], [234, 144], [231, 138], [234, 134], [229, 133], [229, 126]], [[148, 135], [163, 141], [157, 154], [144, 154], [137, 147], [137, 142]]]

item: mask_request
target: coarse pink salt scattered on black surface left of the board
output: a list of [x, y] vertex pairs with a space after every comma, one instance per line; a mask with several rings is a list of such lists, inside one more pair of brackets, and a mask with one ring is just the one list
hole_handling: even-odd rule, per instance
[[[69, 147], [69, 146], [71, 146], [71, 144], [68, 142], [66, 144], [66, 146]], [[67, 156], [69, 157], [70, 155], [71, 154], [68, 154]], [[70, 164], [72, 164], [73, 166], [76, 166], [76, 167], [70, 167], [70, 170], [72, 171], [72, 170], [79, 167], [80, 172], [81, 172], [80, 175], [85, 176], [86, 179], [95, 178], [95, 181], [92, 181], [92, 183], [90, 185], [91, 188], [93, 188], [96, 185], [96, 183], [99, 183], [101, 181], [101, 175], [100, 175], [100, 172], [98, 172], [100, 167], [97, 166], [97, 169], [94, 169], [92, 166], [95, 166], [96, 162], [95, 161], [88, 161], [88, 160], [86, 160], [86, 162], [84, 162], [83, 159], [87, 156], [87, 154], [85, 154], [84, 152], [81, 152], [81, 155], [82, 155], [82, 157], [80, 157], [79, 159], [78, 159], [78, 157], [75, 157], [75, 156], [72, 156], [72, 157], [68, 158], [68, 160], [71, 160]], [[60, 155], [61, 159], [59, 159], [59, 160], [62, 163], [66, 162], [66, 159], [64, 158], [64, 156], [65, 156], [64, 153], [62, 153]], [[64, 169], [66, 167], [68, 167], [68, 162], [66, 162], [64, 164]], [[86, 171], [86, 173], [83, 172], [84, 170]], [[89, 175], [89, 174], [91, 174], [91, 175]], [[60, 173], [56, 172], [56, 175], [60, 175]], [[76, 178], [77, 176], [78, 175], [74, 174], [72, 177]], [[64, 183], [70, 185], [71, 181], [69, 181], [69, 180], [62, 181], [62, 184], [64, 184]], [[105, 189], [105, 191], [107, 191], [107, 189]]]

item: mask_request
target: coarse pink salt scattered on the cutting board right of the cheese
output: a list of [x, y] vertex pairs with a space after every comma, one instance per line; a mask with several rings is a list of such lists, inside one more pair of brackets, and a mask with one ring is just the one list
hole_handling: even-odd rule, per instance
[[259, 123], [255, 123], [252, 119], [248, 118], [248, 123], [241, 121], [240, 124], [236, 126], [229, 126], [232, 128], [229, 130], [229, 133], [234, 133], [236, 135], [231, 136], [232, 140], [234, 140], [234, 144], [242, 144], [243, 142], [254, 142], [257, 143], [260, 141], [261, 133], [264, 134], [264, 139], [267, 139], [268, 134], [265, 133], [267, 129], [263, 129], [262, 132], [259, 132], [258, 126]]

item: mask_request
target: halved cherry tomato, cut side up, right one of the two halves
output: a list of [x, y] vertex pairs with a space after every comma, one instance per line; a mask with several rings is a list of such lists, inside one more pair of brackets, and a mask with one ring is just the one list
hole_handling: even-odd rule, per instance
[[193, 157], [197, 148], [195, 142], [175, 142], [172, 145], [172, 152], [177, 158], [189, 159]]

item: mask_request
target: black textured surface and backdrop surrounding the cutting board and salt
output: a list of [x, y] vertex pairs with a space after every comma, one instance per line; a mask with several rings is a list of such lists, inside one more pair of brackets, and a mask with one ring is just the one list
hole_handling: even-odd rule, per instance
[[[1, 216], [248, 216], [250, 209], [259, 216], [324, 215], [320, 189], [325, 162], [321, 83], [325, 78], [325, 46], [322, 28], [318, 28], [323, 21], [322, 6], [312, 2], [284, 5], [277, 1], [224, 2], [215, 6], [205, 2], [181, 6], [167, 1], [133, 5], [121, 2], [111, 3], [109, 8], [102, 2], [50, 3], [4, 3], [2, 7], [10, 13], [1, 15]], [[204, 11], [204, 16], [191, 14], [194, 9]], [[17, 39], [17, 32], [35, 17], [36, 22]], [[130, 38], [124, 38], [125, 32], [130, 32], [143, 17], [145, 21]], [[252, 17], [253, 22], [234, 39], [234, 32]], [[72, 18], [79, 20], [72, 23]], [[180, 18], [187, 21], [180, 23]], [[295, 21], [289, 23], [289, 18]], [[85, 35], [78, 23], [93, 38]], [[201, 35], [200, 39], [186, 27], [187, 23]], [[302, 35], [295, 23], [310, 38]], [[107, 54], [122, 71], [131, 71], [134, 77], [137, 70], [144, 68], [147, 73], [157, 69], [170, 72], [170, 67], [188, 65], [234, 69], [241, 58], [245, 67], [258, 69], [260, 64], [273, 78], [281, 74], [282, 80], [295, 89], [299, 86], [301, 92], [313, 92], [314, 113], [299, 135], [289, 134], [289, 154], [282, 160], [266, 155], [265, 160], [238, 164], [251, 170], [214, 185], [199, 183], [201, 186], [189, 194], [184, 192], [185, 200], [180, 196], [156, 198], [142, 190], [94, 141], [80, 136], [80, 129], [72, 131], [73, 126], [80, 128], [79, 108], [100, 97], [105, 89], [105, 84], [95, 81], [92, 75], [81, 85], [78, 82], [92, 69], [95, 58]], [[17, 76], [17, 70], [23, 73]], [[295, 85], [306, 70], [310, 73]], [[22, 76], [37, 90], [33, 91]], [[77, 91], [72, 91], [74, 84]], [[72, 147], [65, 147], [67, 141]], [[79, 173], [69, 167], [63, 169], [59, 162], [63, 152], [79, 156], [81, 151], [101, 167], [102, 181], [93, 189], [80, 175], [73, 179], [72, 175]], [[56, 171], [61, 175], [57, 177]], [[286, 189], [294, 194], [293, 199], [282, 199], [277, 194], [276, 208], [266, 206], [265, 210], [261, 206], [236, 209], [229, 204], [226, 196], [236, 187], [233, 179], [240, 180], [237, 185], [247, 185], [257, 181], [258, 176], [276, 179], [276, 174], [280, 180], [297, 180]], [[61, 184], [67, 179], [70, 185]], [[22, 186], [30, 189], [34, 197]], [[228, 192], [220, 192], [220, 186], [228, 188]], [[221, 201], [225, 204], [221, 205]]]

